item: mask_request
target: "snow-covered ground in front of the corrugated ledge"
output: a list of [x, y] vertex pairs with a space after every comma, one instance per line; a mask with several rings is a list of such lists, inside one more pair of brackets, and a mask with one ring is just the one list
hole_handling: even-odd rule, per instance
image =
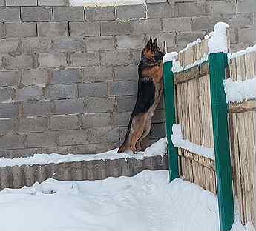
[[[1, 231], [217, 231], [217, 197], [168, 171], [0, 192]], [[232, 231], [244, 230], [239, 217]]]

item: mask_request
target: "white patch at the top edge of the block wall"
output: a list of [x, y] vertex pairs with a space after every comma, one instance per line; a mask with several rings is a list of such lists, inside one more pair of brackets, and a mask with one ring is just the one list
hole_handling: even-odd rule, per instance
[[71, 6], [105, 7], [117, 5], [145, 4], [145, 0], [70, 0]]

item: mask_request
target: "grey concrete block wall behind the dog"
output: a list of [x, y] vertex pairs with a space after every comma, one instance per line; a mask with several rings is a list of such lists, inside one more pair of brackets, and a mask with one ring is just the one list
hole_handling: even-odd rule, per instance
[[[256, 41], [255, 8], [254, 0], [85, 8], [66, 0], [0, 0], [0, 157], [118, 147], [148, 38], [180, 50], [226, 21], [234, 51]], [[161, 102], [146, 144], [163, 136]]]

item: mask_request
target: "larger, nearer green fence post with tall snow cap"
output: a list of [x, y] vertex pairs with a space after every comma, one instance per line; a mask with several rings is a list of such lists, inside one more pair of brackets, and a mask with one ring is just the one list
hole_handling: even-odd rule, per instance
[[228, 107], [223, 81], [226, 75], [227, 57], [224, 53], [209, 55], [211, 82], [211, 111], [214, 130], [217, 198], [220, 230], [229, 231], [234, 222], [234, 198], [232, 191], [232, 167], [229, 150]]

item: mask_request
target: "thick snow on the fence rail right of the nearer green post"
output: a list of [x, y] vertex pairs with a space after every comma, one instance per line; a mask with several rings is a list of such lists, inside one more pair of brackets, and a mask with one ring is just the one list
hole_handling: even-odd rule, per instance
[[231, 78], [224, 80], [226, 102], [243, 102], [256, 98], [256, 77], [245, 81], [232, 81]]

